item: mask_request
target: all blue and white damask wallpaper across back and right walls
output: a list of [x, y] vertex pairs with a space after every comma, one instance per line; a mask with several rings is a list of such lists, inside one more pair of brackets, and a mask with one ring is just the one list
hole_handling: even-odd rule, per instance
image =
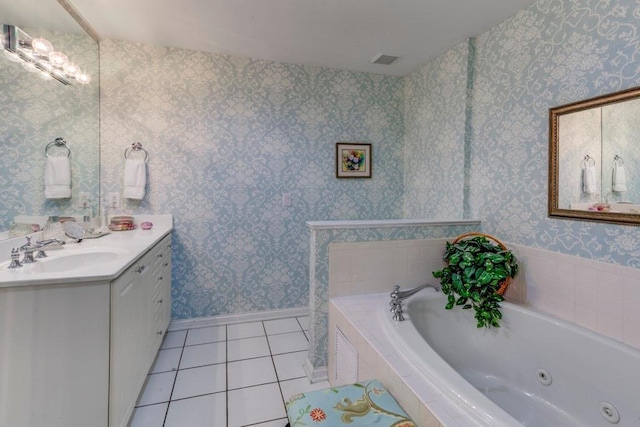
[[[301, 307], [330, 219], [474, 218], [501, 240], [640, 267], [640, 229], [547, 218], [548, 109], [640, 84], [640, 0], [542, 0], [406, 78], [105, 40], [101, 191], [150, 153], [176, 319]], [[373, 178], [335, 178], [335, 143]], [[282, 194], [292, 205], [282, 206]]]

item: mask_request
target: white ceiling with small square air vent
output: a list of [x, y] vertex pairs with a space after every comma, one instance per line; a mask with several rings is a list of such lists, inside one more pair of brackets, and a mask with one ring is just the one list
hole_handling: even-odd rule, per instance
[[102, 38], [402, 76], [534, 0], [71, 2]]

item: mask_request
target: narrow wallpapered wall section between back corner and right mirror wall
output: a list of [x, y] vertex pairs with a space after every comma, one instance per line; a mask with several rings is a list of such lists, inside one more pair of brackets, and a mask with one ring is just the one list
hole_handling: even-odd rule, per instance
[[406, 78], [405, 218], [464, 215], [468, 42]]

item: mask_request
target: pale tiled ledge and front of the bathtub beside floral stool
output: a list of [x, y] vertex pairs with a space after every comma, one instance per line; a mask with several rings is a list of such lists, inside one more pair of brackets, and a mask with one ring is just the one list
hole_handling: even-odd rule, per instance
[[[358, 381], [377, 378], [420, 427], [477, 426], [404, 359], [381, 332], [377, 316], [389, 295], [332, 298], [329, 328], [346, 336], [358, 352]], [[329, 382], [335, 377], [335, 340], [329, 340]]]

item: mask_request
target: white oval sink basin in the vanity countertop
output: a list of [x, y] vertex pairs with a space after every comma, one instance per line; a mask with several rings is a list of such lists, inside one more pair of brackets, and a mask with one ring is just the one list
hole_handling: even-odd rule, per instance
[[[79, 270], [87, 267], [98, 267], [99, 265], [116, 261], [125, 256], [127, 251], [115, 248], [96, 248], [90, 250], [77, 249], [69, 252], [55, 253], [49, 252], [49, 257], [40, 258], [35, 263], [23, 264], [21, 268], [13, 269], [16, 272], [37, 274], [37, 273], [60, 273], [64, 271]], [[9, 263], [2, 266], [6, 270]]]

